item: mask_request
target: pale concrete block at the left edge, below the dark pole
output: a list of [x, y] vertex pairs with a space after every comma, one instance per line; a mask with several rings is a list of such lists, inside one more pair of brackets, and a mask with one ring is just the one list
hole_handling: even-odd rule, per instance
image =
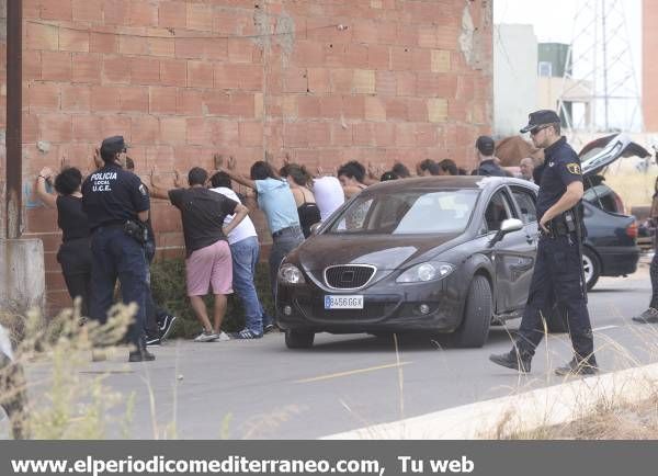
[[44, 310], [46, 279], [39, 239], [0, 240], [0, 309]]

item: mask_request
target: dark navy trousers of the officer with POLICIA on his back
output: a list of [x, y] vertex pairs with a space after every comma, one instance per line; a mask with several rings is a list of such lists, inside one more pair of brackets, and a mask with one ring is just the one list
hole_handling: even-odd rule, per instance
[[123, 302], [137, 304], [127, 337], [139, 348], [144, 339], [148, 291], [144, 248], [120, 227], [100, 227], [91, 238], [91, 317], [101, 324], [107, 321], [118, 277]]

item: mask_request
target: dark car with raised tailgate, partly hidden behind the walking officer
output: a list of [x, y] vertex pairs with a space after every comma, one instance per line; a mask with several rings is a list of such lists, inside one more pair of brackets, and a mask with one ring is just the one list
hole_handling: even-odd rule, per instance
[[604, 183], [602, 172], [621, 157], [650, 157], [625, 134], [601, 137], [586, 145], [579, 154], [585, 182], [585, 241], [582, 267], [588, 290], [599, 276], [625, 276], [637, 270], [640, 249], [637, 246], [635, 217], [626, 215], [624, 204]]

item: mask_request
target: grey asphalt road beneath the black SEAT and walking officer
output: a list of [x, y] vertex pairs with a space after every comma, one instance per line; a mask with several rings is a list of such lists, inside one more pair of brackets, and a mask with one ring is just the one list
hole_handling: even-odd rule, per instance
[[[658, 361], [658, 326], [628, 319], [648, 305], [649, 294], [646, 267], [626, 279], [601, 279], [590, 293], [604, 371]], [[564, 335], [543, 342], [529, 376], [488, 361], [490, 353], [509, 350], [508, 331], [517, 326], [492, 328], [483, 349], [469, 350], [407, 337], [396, 352], [392, 339], [365, 335], [319, 335], [303, 351], [287, 350], [282, 335], [173, 341], [154, 350], [154, 363], [129, 365], [122, 351], [79, 372], [83, 379], [107, 373], [104, 385], [135, 395], [132, 424], [122, 433], [117, 422], [124, 413], [115, 410], [111, 438], [313, 439], [561, 382], [553, 369], [571, 356]], [[49, 373], [47, 363], [30, 365], [36, 398]]]

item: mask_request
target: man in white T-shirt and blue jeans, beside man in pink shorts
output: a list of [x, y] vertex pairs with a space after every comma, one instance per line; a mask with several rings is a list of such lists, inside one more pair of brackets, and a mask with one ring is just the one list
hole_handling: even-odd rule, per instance
[[[235, 202], [240, 199], [232, 191], [230, 175], [226, 172], [217, 172], [211, 178], [213, 192]], [[232, 222], [234, 215], [227, 215], [224, 224]], [[242, 299], [245, 308], [245, 328], [234, 333], [234, 339], [259, 339], [263, 336], [264, 309], [256, 291], [254, 276], [256, 267], [260, 254], [260, 245], [256, 227], [248, 216], [228, 234], [228, 246], [232, 260], [232, 284], [234, 290]], [[268, 320], [271, 320], [266, 318]]]

